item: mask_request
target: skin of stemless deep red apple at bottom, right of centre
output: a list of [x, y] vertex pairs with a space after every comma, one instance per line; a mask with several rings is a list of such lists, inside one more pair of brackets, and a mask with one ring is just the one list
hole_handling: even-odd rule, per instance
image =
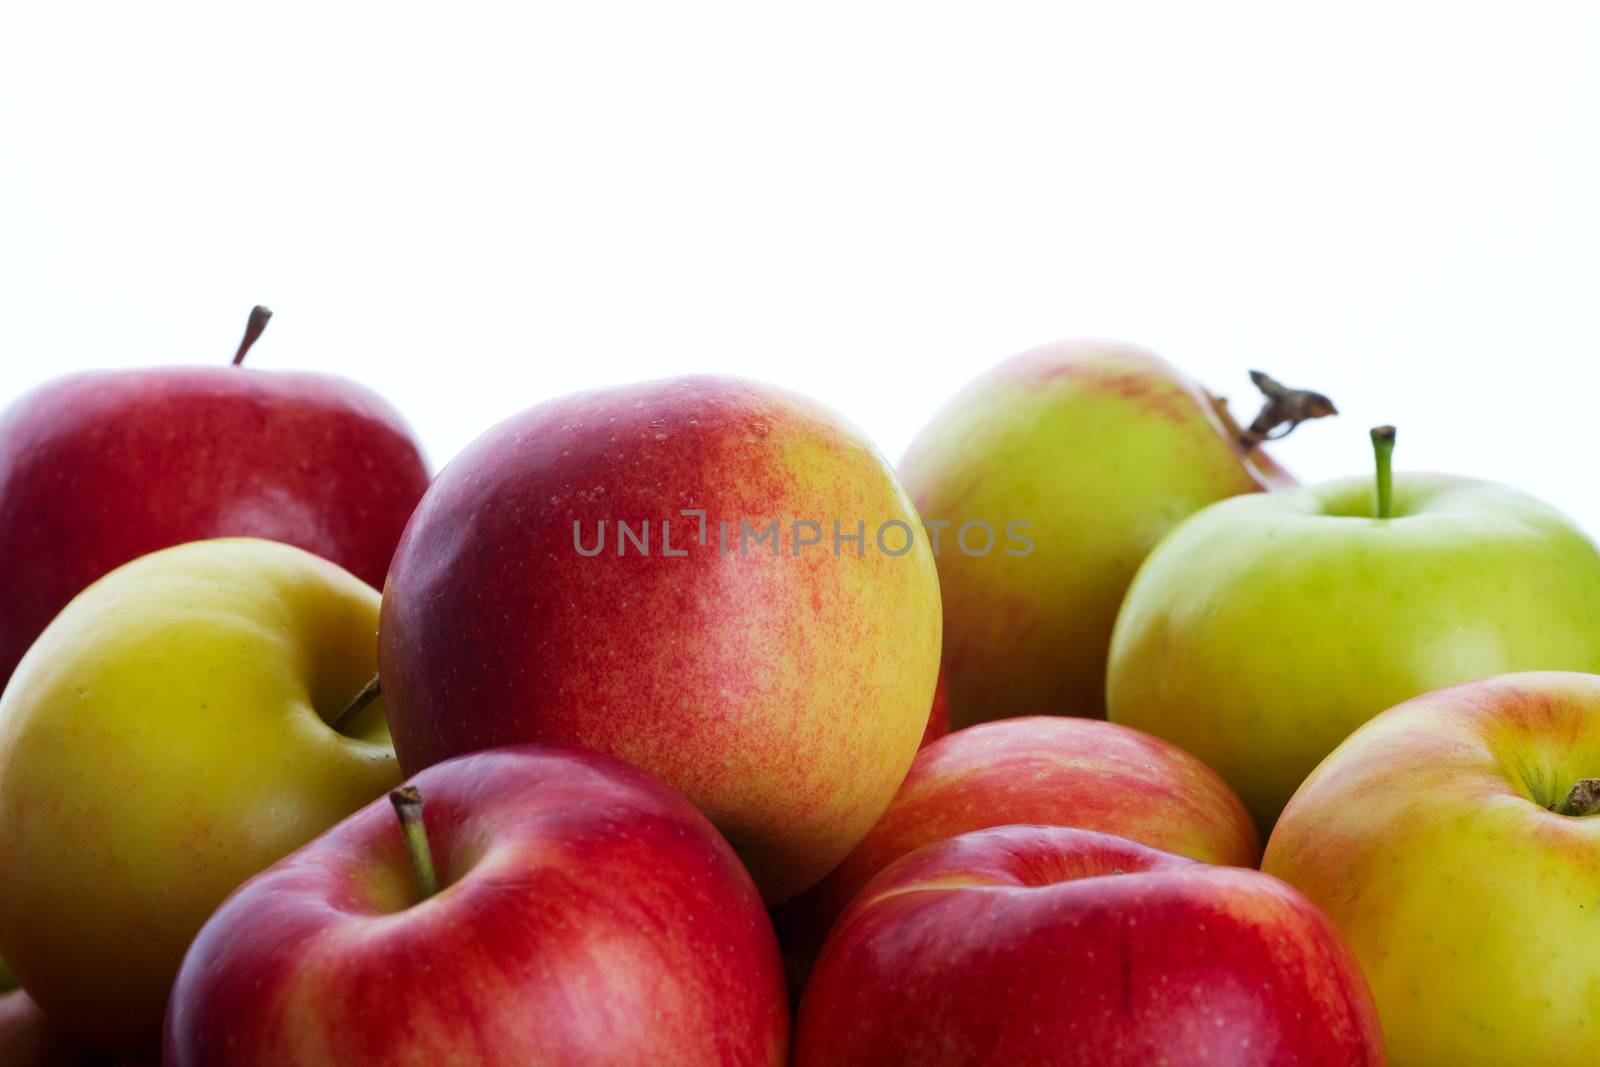
[[1384, 1062], [1339, 931], [1258, 870], [1006, 825], [928, 845], [840, 918], [797, 1067]]

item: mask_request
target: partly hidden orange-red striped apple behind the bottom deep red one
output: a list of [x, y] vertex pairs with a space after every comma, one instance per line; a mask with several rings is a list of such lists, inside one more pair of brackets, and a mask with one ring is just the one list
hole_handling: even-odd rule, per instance
[[923, 845], [1013, 822], [1072, 825], [1208, 864], [1254, 867], [1261, 838], [1211, 768], [1150, 734], [1030, 715], [968, 726], [912, 760], [888, 811], [827, 878], [787, 905], [802, 971], [834, 920], [891, 862]]

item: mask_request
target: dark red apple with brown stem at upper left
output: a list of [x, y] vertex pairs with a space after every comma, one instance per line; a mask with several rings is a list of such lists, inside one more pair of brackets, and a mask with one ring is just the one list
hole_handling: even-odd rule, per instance
[[427, 488], [411, 432], [342, 378], [238, 366], [90, 371], [0, 414], [0, 685], [96, 577], [157, 549], [270, 537], [382, 585]]

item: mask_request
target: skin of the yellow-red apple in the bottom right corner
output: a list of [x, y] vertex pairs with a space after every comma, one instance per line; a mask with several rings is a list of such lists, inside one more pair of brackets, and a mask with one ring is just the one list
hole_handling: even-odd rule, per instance
[[1386, 710], [1283, 811], [1264, 869], [1322, 905], [1397, 1067], [1597, 1048], [1600, 819], [1550, 811], [1600, 769], [1600, 678], [1533, 672]]

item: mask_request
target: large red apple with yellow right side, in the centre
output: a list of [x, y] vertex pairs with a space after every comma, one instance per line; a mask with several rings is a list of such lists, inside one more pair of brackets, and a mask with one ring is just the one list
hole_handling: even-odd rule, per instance
[[776, 902], [910, 766], [938, 574], [894, 472], [827, 408], [728, 378], [600, 389], [440, 472], [389, 571], [379, 667], [408, 774], [530, 741], [618, 755]]

